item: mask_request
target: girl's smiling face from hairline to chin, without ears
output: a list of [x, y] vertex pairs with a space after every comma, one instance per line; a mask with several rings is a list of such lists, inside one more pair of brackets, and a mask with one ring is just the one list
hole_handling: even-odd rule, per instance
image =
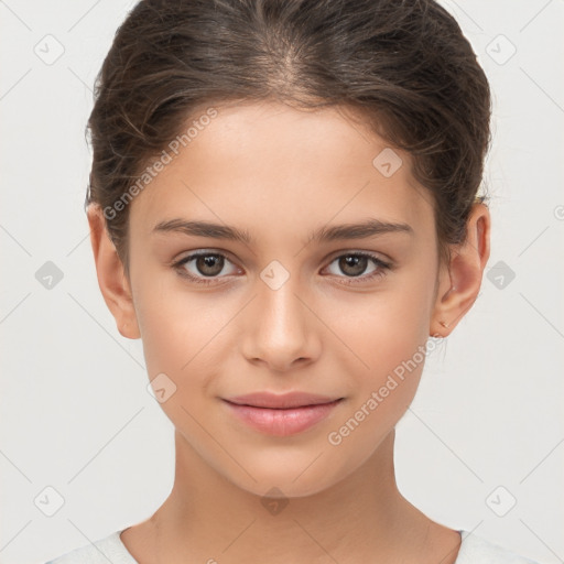
[[[336, 108], [217, 110], [131, 204], [148, 372], [208, 467], [257, 495], [311, 495], [373, 456], [415, 394], [433, 208], [409, 156]], [[237, 400], [256, 392], [315, 398]]]

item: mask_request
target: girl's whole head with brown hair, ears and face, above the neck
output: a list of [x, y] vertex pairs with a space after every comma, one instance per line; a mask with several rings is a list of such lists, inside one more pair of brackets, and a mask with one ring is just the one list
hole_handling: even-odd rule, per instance
[[[173, 382], [162, 408], [210, 468], [304, 496], [393, 433], [429, 337], [479, 292], [489, 117], [486, 76], [431, 0], [132, 10], [88, 122], [93, 249], [118, 329]], [[224, 401], [257, 391], [341, 401], [273, 436]]]

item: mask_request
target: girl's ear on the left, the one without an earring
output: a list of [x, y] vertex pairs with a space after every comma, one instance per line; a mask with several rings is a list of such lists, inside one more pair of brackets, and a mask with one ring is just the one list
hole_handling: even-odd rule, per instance
[[138, 339], [141, 337], [141, 333], [133, 306], [133, 296], [123, 263], [106, 229], [106, 218], [100, 206], [96, 204], [88, 206], [87, 215], [98, 285], [106, 305], [113, 315], [120, 334], [130, 339]]

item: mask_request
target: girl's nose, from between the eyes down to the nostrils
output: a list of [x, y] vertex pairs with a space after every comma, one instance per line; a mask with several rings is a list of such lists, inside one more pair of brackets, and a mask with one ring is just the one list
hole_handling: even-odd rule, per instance
[[271, 371], [285, 372], [311, 364], [322, 348], [322, 324], [296, 279], [290, 276], [276, 290], [259, 279], [257, 295], [246, 312], [242, 354]]

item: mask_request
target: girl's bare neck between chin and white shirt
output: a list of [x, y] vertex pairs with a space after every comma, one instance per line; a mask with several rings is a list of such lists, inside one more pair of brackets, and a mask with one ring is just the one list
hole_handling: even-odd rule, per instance
[[451, 564], [459, 536], [401, 496], [393, 444], [394, 431], [357, 470], [318, 494], [264, 500], [216, 473], [176, 432], [174, 487], [145, 528], [143, 553], [171, 564], [248, 563], [257, 555], [268, 564], [426, 562], [422, 554]]

